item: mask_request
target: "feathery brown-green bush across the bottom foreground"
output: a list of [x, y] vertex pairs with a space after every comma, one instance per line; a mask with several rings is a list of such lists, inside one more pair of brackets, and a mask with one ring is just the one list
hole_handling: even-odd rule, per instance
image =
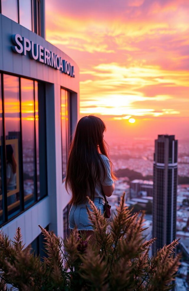
[[180, 264], [180, 256], [174, 256], [178, 240], [149, 258], [155, 239], [144, 241], [144, 212], [131, 215], [123, 195], [112, 222], [108, 222], [88, 200], [94, 237], [86, 239], [74, 229], [62, 245], [60, 237], [40, 227], [46, 241], [43, 261], [25, 248], [20, 228], [13, 242], [0, 233], [0, 290], [7, 290], [6, 283], [23, 291], [172, 289]]

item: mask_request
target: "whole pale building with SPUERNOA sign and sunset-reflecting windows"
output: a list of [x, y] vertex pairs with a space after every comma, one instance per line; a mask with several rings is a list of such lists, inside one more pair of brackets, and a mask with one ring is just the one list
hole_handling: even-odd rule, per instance
[[35, 247], [39, 224], [67, 233], [64, 183], [79, 68], [45, 40], [43, 0], [0, 2], [0, 225], [10, 238], [21, 227]]

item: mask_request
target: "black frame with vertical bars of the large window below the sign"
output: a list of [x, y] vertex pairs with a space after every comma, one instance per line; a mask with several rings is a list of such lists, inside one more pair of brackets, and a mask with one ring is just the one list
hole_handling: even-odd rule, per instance
[[[19, 157], [19, 188], [20, 188], [20, 204], [19, 204], [19, 212], [10, 218], [8, 218], [8, 203], [7, 203], [7, 187], [6, 187], [6, 130], [5, 130], [5, 110], [4, 110], [4, 78], [3, 75], [9, 75], [9, 76], [14, 76], [19, 78], [19, 102], [20, 102], [20, 157]], [[38, 82], [38, 80], [21, 76], [21, 75], [15, 75], [15, 74], [10, 74], [6, 73], [3, 71], [0, 71], [0, 78], [1, 78], [1, 93], [0, 93], [0, 98], [2, 100], [2, 161], [1, 161], [1, 178], [2, 178], [2, 216], [3, 216], [3, 222], [0, 222], [0, 227], [4, 226], [8, 222], [12, 221], [15, 219], [17, 216], [20, 214], [24, 213], [27, 211], [29, 208], [34, 206], [36, 203], [41, 201], [43, 198], [48, 196], [48, 187], [47, 187], [47, 179], [45, 181], [45, 189], [46, 189], [46, 195], [43, 197], [38, 198], [38, 187], [37, 187], [37, 159], [36, 159], [36, 125], [35, 125], [35, 116], [36, 116], [36, 111], [34, 112], [34, 136], [35, 136], [35, 145], [34, 145], [34, 159], [35, 159], [35, 175], [34, 175], [34, 202], [29, 204], [28, 206], [25, 207], [25, 197], [24, 196], [24, 179], [23, 179], [23, 144], [22, 144], [22, 118], [21, 118], [21, 78], [32, 80], [33, 81], [33, 97], [34, 97], [34, 110], [35, 110], [35, 81]], [[42, 81], [39, 81], [40, 83], [44, 83]], [[44, 108], [44, 114], [45, 114], [45, 137], [46, 137], [46, 103], [45, 103], [45, 108]], [[46, 144], [46, 143], [45, 143]], [[45, 145], [45, 176], [47, 177], [47, 148]]]

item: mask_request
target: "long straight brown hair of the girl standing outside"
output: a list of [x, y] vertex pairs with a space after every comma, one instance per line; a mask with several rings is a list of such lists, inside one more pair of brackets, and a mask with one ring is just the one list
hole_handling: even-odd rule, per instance
[[[71, 143], [67, 164], [67, 176], [65, 187], [67, 192], [71, 190], [71, 204], [86, 202], [86, 195], [94, 200], [95, 184], [101, 176], [100, 163], [102, 165], [105, 180], [107, 169], [102, 161], [100, 153], [108, 157], [107, 143], [103, 139], [105, 124], [99, 117], [89, 115], [82, 117], [76, 127], [75, 135]], [[112, 171], [111, 176], [116, 180]], [[90, 193], [87, 193], [87, 190]]]

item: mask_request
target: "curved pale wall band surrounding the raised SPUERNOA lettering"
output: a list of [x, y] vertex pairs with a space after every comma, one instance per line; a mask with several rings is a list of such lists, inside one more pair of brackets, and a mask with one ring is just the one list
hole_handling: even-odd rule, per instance
[[[74, 66], [75, 77], [70, 77], [63, 73], [61, 70], [55, 69], [48, 64], [31, 59], [27, 55], [17, 54], [12, 50], [12, 35], [19, 34], [23, 38], [27, 38], [33, 41], [35, 44], [42, 46], [49, 51], [52, 51], [55, 55], [61, 57], [62, 60], [66, 60], [72, 66]], [[36, 33], [28, 30], [27, 28], [19, 25], [18, 23], [10, 20], [6, 16], [0, 14], [0, 70], [4, 72], [11, 72], [15, 75], [21, 75], [44, 82], [59, 84], [74, 92], [79, 91], [79, 68], [76, 63], [61, 50], [53, 46], [44, 38], [40, 37]], [[43, 58], [43, 56], [42, 56]]]

